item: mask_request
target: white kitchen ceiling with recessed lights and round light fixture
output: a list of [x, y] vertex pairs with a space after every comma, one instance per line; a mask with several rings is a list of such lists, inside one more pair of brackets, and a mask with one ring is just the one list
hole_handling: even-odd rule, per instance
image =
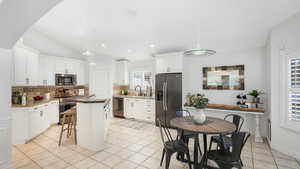
[[261, 47], [298, 11], [300, 0], [64, 0], [33, 28], [80, 52], [143, 60], [196, 43], [217, 52]]

